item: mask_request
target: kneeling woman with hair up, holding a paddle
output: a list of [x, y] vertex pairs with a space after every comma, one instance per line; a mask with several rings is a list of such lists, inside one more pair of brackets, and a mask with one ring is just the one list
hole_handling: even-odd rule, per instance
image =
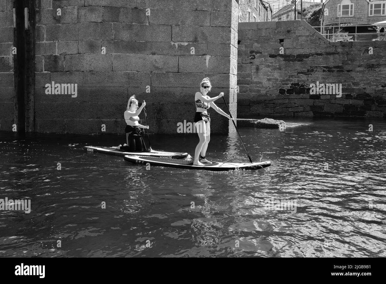
[[144, 101], [141, 107], [138, 108], [138, 100], [135, 99], [135, 96], [132, 95], [127, 103], [127, 109], [124, 113], [126, 121], [126, 143], [124, 146], [119, 145], [118, 150], [124, 151], [146, 151], [145, 141], [142, 138], [142, 130], [140, 128], [149, 129], [149, 126], [144, 126], [138, 123], [138, 115], [141, 113], [142, 109], [145, 107], [146, 102]]

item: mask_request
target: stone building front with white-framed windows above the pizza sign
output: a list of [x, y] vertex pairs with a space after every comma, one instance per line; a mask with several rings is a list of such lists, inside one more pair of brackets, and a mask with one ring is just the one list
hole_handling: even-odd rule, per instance
[[328, 33], [333, 30], [332, 26], [374, 24], [386, 20], [386, 0], [327, 0], [322, 11], [320, 24]]

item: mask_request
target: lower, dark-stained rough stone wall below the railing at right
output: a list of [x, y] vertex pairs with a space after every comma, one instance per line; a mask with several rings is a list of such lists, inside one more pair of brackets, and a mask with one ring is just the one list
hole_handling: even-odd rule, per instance
[[[385, 50], [386, 41], [330, 43], [303, 20], [240, 23], [238, 116], [384, 117]], [[317, 82], [341, 83], [342, 97], [310, 94]]]

